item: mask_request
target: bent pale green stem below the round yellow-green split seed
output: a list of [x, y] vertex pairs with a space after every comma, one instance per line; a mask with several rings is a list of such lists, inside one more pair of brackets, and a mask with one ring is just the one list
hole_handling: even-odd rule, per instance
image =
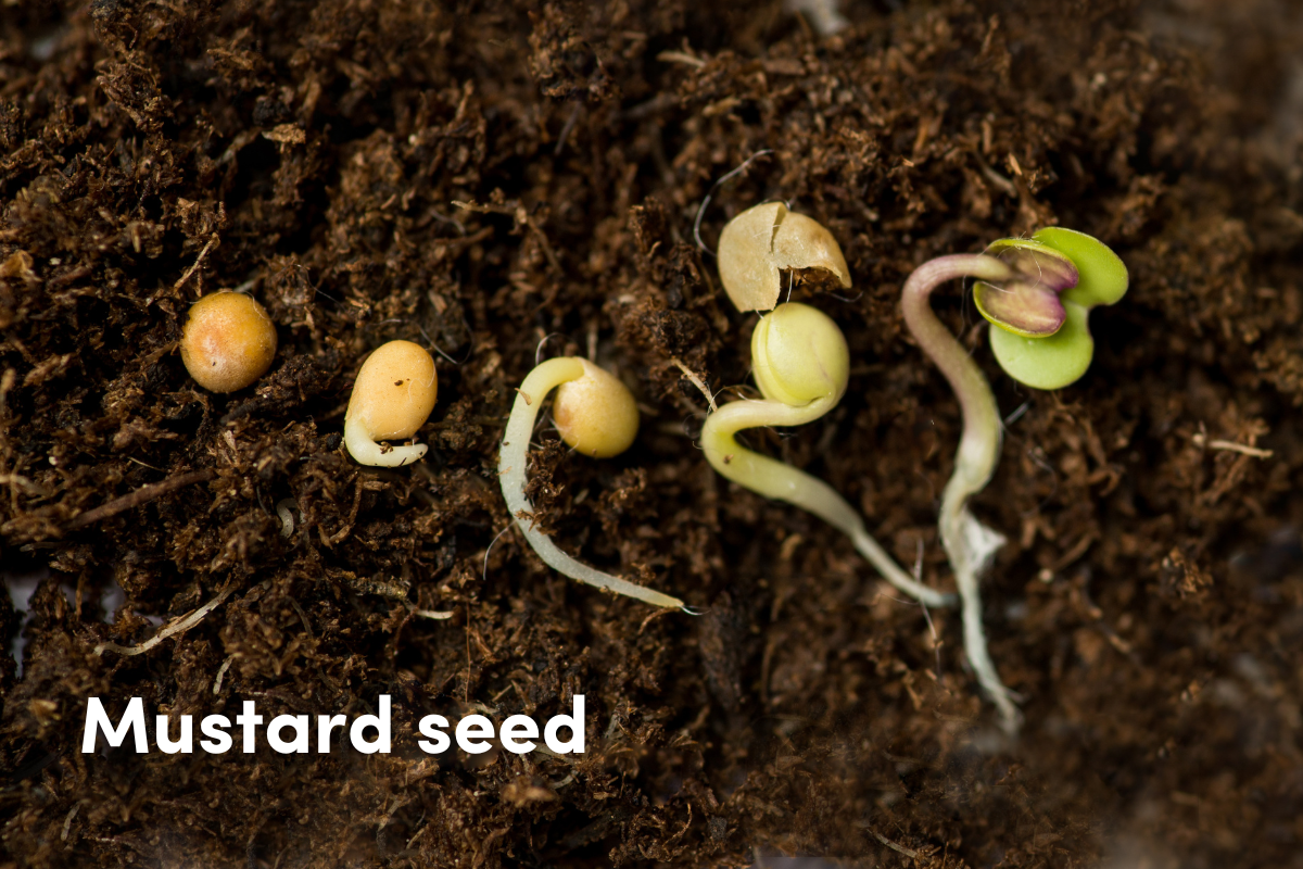
[[954, 595], [929, 589], [900, 569], [865, 530], [860, 515], [831, 486], [737, 443], [735, 435], [743, 429], [800, 426], [818, 420], [837, 405], [838, 399], [840, 396], [816, 399], [799, 406], [770, 400], [726, 404], [706, 417], [706, 423], [701, 429], [701, 448], [706, 453], [706, 461], [726, 479], [765, 498], [796, 504], [837, 528], [851, 538], [855, 548], [886, 577], [887, 582], [923, 605], [950, 606]]

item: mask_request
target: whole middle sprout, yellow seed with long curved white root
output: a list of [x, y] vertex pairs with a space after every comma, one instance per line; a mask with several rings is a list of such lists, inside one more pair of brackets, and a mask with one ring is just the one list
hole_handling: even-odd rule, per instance
[[633, 395], [605, 369], [588, 360], [562, 357], [547, 360], [530, 371], [516, 390], [516, 401], [511, 408], [498, 459], [502, 494], [516, 526], [549, 567], [572, 580], [653, 606], [684, 608], [679, 598], [635, 585], [571, 558], [552, 543], [552, 538], [536, 528], [534, 507], [525, 495], [525, 465], [538, 409], [554, 388], [556, 400], [552, 404], [552, 417], [556, 430], [562, 440], [576, 451], [594, 459], [618, 456], [629, 448], [638, 433], [638, 408]]

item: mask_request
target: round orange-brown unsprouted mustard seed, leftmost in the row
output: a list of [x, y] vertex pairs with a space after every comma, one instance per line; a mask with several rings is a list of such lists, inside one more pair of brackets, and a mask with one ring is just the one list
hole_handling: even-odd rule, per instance
[[181, 362], [210, 392], [235, 392], [261, 378], [276, 357], [276, 327], [262, 305], [223, 291], [194, 305], [181, 327]]

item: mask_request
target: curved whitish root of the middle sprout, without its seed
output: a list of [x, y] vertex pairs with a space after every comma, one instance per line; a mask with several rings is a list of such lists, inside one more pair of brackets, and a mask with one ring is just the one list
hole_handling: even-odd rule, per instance
[[516, 403], [511, 408], [511, 418], [507, 421], [507, 433], [503, 435], [502, 452], [498, 459], [498, 477], [502, 481], [503, 498], [507, 499], [507, 509], [538, 556], [558, 573], [658, 607], [681, 610], [684, 606], [679, 598], [635, 585], [628, 580], [603, 573], [577, 562], [560, 551], [552, 543], [552, 538], [534, 528], [532, 520], [534, 506], [525, 496], [525, 465], [529, 439], [534, 433], [534, 421], [538, 418], [538, 408], [555, 387], [581, 377], [584, 377], [584, 365], [580, 360], [569, 357], [547, 360], [530, 371], [516, 391]]

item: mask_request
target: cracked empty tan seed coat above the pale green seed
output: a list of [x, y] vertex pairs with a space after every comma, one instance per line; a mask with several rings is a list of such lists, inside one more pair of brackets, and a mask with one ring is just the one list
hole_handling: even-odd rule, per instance
[[821, 223], [765, 202], [743, 211], [719, 235], [719, 280], [740, 311], [767, 311], [782, 294], [782, 272], [821, 268], [851, 288], [837, 238]]

